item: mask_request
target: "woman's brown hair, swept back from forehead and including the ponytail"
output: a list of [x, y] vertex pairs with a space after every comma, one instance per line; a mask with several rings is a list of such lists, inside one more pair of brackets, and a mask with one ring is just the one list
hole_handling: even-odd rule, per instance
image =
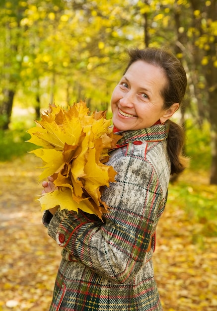
[[[158, 48], [131, 49], [128, 51], [130, 60], [124, 71], [136, 61], [144, 61], [164, 71], [167, 83], [161, 90], [164, 100], [163, 109], [167, 110], [173, 103], [181, 106], [187, 86], [185, 70], [180, 61], [170, 52]], [[171, 175], [181, 173], [187, 166], [188, 159], [182, 155], [185, 133], [177, 123], [167, 120], [169, 133], [167, 137], [167, 151], [171, 162]]]

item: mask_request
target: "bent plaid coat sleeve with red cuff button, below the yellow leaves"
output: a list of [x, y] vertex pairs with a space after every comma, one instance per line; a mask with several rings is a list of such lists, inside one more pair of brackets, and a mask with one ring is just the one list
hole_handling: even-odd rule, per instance
[[149, 163], [122, 156], [112, 165], [118, 171], [117, 182], [103, 191], [102, 199], [110, 207], [104, 222], [59, 210], [50, 221], [48, 234], [90, 269], [124, 283], [146, 260], [164, 199]]

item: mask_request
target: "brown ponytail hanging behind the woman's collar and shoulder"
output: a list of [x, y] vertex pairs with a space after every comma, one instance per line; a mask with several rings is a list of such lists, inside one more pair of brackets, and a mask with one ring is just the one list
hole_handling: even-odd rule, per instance
[[187, 166], [189, 159], [183, 155], [185, 133], [181, 126], [168, 120], [169, 133], [167, 137], [167, 152], [171, 162], [171, 175], [181, 173]]

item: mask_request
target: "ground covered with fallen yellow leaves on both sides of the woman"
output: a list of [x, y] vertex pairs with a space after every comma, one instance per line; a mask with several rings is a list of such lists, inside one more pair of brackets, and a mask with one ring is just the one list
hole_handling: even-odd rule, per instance
[[[49, 309], [61, 248], [41, 224], [39, 163], [32, 155], [0, 163], [0, 311]], [[185, 179], [217, 205], [206, 175], [186, 171]], [[153, 259], [164, 311], [216, 311], [216, 220], [197, 222], [183, 196], [169, 195]]]

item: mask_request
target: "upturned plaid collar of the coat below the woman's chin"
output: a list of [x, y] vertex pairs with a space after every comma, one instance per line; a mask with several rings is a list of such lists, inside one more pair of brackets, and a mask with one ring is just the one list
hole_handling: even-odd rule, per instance
[[155, 124], [149, 128], [134, 131], [118, 131], [114, 129], [114, 133], [123, 137], [118, 141], [117, 146], [123, 146], [133, 141], [140, 142], [159, 142], [168, 137], [169, 124]]

